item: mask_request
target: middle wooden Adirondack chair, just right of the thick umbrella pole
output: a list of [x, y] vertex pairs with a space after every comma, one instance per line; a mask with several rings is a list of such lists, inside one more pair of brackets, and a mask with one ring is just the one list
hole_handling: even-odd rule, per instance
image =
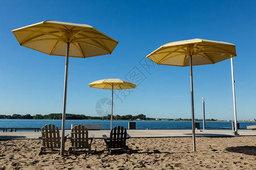
[[88, 130], [82, 125], [76, 125], [71, 130], [71, 135], [68, 136], [71, 139], [71, 147], [69, 147], [69, 153], [73, 151], [74, 148], [84, 149], [88, 148], [88, 154], [91, 150], [92, 141], [94, 134], [90, 135], [88, 138]]

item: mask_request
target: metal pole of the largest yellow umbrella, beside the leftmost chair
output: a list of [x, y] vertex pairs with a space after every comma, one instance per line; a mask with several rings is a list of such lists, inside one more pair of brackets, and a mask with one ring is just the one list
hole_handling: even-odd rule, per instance
[[62, 129], [61, 129], [62, 130], [62, 135], [61, 135], [60, 155], [64, 155], [64, 150], [65, 150], [65, 119], [66, 119], [66, 103], [67, 103], [67, 85], [68, 85], [68, 58], [69, 58], [69, 42], [67, 42], [67, 51], [66, 51], [63, 114], [62, 114]]

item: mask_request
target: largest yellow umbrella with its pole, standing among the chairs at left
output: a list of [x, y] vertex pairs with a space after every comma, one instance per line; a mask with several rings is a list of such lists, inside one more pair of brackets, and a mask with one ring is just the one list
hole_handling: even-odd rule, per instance
[[70, 57], [111, 54], [118, 41], [90, 25], [44, 21], [12, 31], [19, 44], [53, 56], [66, 56], [60, 154], [64, 154], [65, 113]]

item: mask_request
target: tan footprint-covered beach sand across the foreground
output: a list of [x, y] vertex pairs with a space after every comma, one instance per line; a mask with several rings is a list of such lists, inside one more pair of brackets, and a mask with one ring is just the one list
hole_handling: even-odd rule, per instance
[[[131, 138], [131, 153], [108, 155], [103, 139], [94, 139], [89, 155], [38, 155], [38, 139], [0, 141], [0, 169], [256, 169], [256, 136]], [[70, 141], [65, 143], [68, 150]]]

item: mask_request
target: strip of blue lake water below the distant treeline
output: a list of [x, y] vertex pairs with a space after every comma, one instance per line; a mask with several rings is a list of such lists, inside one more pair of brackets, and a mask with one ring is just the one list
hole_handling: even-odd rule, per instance
[[[192, 129], [191, 121], [113, 121], [113, 127], [123, 126], [128, 129], [128, 122], [136, 122], [136, 129]], [[199, 121], [196, 121], [199, 122]], [[203, 122], [200, 129], [203, 129]], [[46, 124], [54, 124], [61, 129], [61, 120], [27, 120], [0, 119], [0, 128], [42, 128]], [[71, 124], [102, 124], [102, 129], [110, 129], [109, 120], [66, 120], [65, 129], [71, 129]], [[239, 122], [240, 129], [256, 125], [256, 122]], [[206, 129], [232, 129], [232, 122], [205, 122]]]

